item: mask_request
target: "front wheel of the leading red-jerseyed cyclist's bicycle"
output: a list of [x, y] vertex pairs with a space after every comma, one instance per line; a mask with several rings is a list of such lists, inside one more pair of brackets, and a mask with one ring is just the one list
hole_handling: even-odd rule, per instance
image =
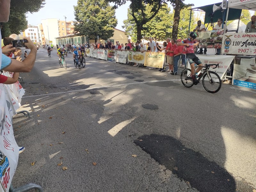
[[208, 71], [208, 74], [209, 76], [205, 73], [202, 79], [204, 89], [209, 93], [216, 93], [221, 87], [220, 76], [213, 71]]

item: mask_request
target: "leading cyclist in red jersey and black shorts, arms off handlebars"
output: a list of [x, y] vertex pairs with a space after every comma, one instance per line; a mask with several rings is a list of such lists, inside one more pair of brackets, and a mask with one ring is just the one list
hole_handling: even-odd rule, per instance
[[[196, 39], [197, 35], [195, 32], [191, 32], [189, 34], [188, 39], [184, 39], [182, 42], [178, 42], [177, 45], [184, 45], [186, 50], [186, 58], [188, 59], [191, 67], [191, 75], [193, 83], [198, 83], [199, 81], [195, 77], [195, 64], [198, 66], [203, 66], [202, 62], [196, 57], [196, 54], [194, 52], [194, 46], [197, 46], [199, 42], [197, 42]], [[198, 73], [202, 68], [199, 67], [196, 69], [196, 73]], [[200, 75], [199, 75], [200, 76]]]

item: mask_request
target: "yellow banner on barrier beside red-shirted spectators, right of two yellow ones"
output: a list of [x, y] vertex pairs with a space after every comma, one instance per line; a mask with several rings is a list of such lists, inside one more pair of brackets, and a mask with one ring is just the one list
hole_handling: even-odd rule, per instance
[[159, 52], [144, 52], [145, 53], [145, 63], [144, 66], [163, 68], [165, 53]]

